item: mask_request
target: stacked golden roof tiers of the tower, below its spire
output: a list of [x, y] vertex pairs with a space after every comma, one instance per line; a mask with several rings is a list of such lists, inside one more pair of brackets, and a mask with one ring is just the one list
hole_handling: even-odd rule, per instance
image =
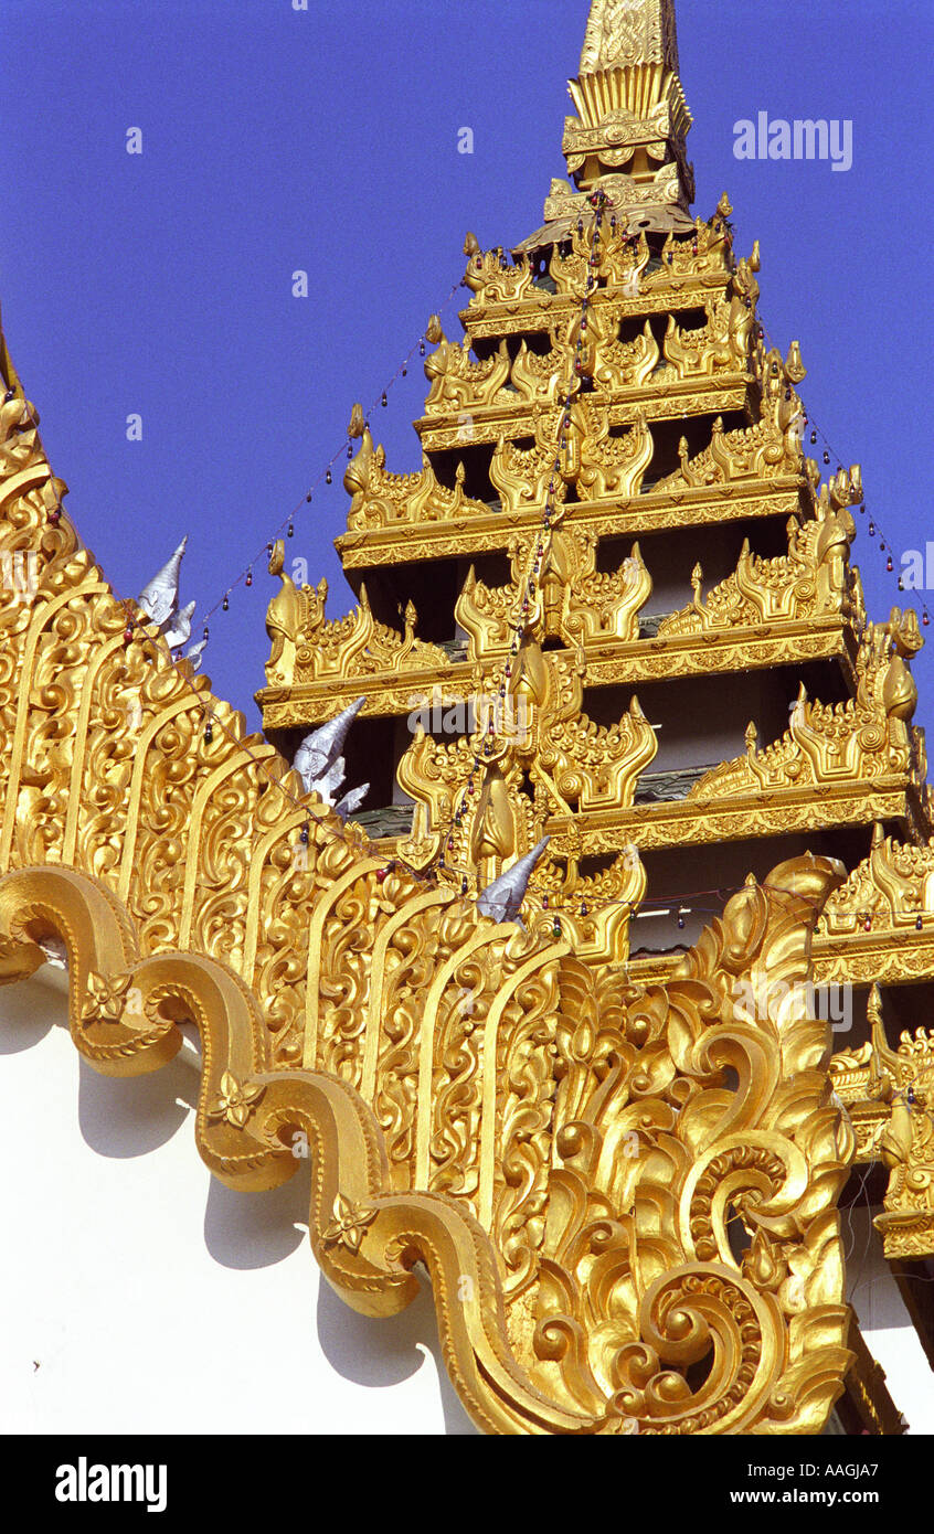
[[[442, 859], [457, 882], [485, 885], [549, 834], [529, 911], [548, 896], [575, 940], [607, 959], [624, 956], [629, 908], [644, 894], [633, 845], [897, 818], [923, 781], [905, 724], [913, 695], [897, 689], [903, 663], [860, 638], [859, 575], [848, 566], [859, 469], [819, 488], [817, 465], [801, 446], [799, 348], [781, 357], [764, 347], [758, 255], [733, 259], [728, 212], [724, 201], [690, 235], [650, 245], [644, 230], [630, 238], [610, 218], [597, 227], [590, 207], [567, 249], [552, 249], [554, 293], [543, 261], [521, 256], [503, 268], [498, 258], [471, 256], [463, 344], [448, 342], [437, 321], [428, 330], [437, 350], [425, 362], [431, 388], [416, 422], [422, 472], [390, 474], [357, 420], [348, 532], [337, 540], [348, 572], [365, 575], [357, 611], [327, 624], [321, 589], [296, 592], [281, 546], [273, 557], [284, 589], [268, 618], [276, 641], [259, 695], [267, 729], [316, 723], [359, 695], [367, 715], [397, 718], [419, 712], [419, 689], [446, 706], [489, 700], [486, 732], [445, 741], [425, 727], [394, 762], [414, 818], [409, 834], [385, 839], [386, 853], [417, 868]], [[491, 334], [489, 288], [498, 298], [511, 272], [520, 281]], [[483, 339], [474, 336], [477, 316]], [[620, 339], [624, 325], [632, 341]], [[471, 360], [472, 345], [486, 360]], [[745, 423], [725, 430], [725, 417]], [[672, 419], [676, 439], [670, 428], [666, 436]], [[466, 492], [468, 480], [482, 482], [479, 494]], [[762, 558], [747, 538], [733, 575], [702, 600], [695, 569], [693, 601], [647, 629], [640, 615], [652, 574], [640, 543], [615, 569], [598, 568], [613, 538], [696, 522], [745, 526], [753, 517], [787, 518], [788, 552]], [[502, 584], [477, 575], [477, 560], [491, 554], [508, 561]], [[448, 614], [442, 600], [434, 604], [434, 627], [446, 623], [451, 635], [443, 646], [414, 637], [406, 578], [426, 561], [460, 581]], [[405, 632], [376, 623], [373, 581], [393, 589]], [[584, 684], [618, 689], [816, 657], [839, 657], [853, 673], [847, 710], [802, 698], [782, 739], [759, 749], [750, 732], [745, 756], [676, 799], [635, 802], [656, 755], [638, 698], [610, 724], [583, 707]], [[523, 738], [509, 738], [520, 715]], [[828, 792], [816, 796], [817, 782]], [[465, 784], [474, 802], [459, 813]], [[379, 831], [377, 816], [370, 824]], [[581, 871], [581, 861], [607, 854], [612, 873]], [[581, 907], [594, 908], [583, 920]]]

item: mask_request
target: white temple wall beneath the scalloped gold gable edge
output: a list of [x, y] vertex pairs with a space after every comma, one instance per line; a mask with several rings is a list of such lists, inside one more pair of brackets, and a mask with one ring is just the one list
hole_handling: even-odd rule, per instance
[[307, 1163], [224, 1187], [192, 1065], [98, 1075], [51, 974], [0, 989], [0, 1430], [474, 1433], [428, 1289], [388, 1321], [351, 1312], [308, 1247]]

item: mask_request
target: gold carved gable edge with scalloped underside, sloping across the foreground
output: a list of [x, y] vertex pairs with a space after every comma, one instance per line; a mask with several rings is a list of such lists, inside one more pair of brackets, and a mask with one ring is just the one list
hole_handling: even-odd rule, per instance
[[485, 1430], [821, 1431], [851, 1358], [834, 1203], [853, 1140], [825, 1029], [745, 1025], [730, 997], [807, 977], [844, 870], [748, 884], [647, 991], [386, 873], [138, 614], [127, 641], [14, 403], [0, 549], [35, 555], [37, 588], [0, 597], [0, 980], [63, 940], [72, 1037], [112, 1075], [158, 1069], [193, 1020], [207, 1166], [268, 1189], [304, 1137], [328, 1281], [391, 1315], [423, 1261]]

